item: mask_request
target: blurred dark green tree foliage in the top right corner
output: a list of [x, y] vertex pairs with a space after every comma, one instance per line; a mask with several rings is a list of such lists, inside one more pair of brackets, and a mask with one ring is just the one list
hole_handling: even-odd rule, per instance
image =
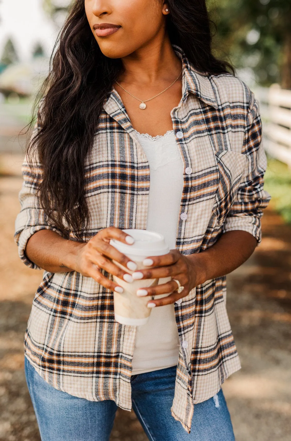
[[208, 7], [220, 56], [253, 69], [262, 86], [291, 89], [291, 0], [208, 0]]

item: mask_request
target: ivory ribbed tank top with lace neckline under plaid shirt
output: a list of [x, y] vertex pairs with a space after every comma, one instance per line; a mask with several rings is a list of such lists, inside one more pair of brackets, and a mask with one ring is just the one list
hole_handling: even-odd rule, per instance
[[[173, 249], [183, 191], [183, 161], [174, 131], [154, 137], [136, 133], [150, 170], [147, 230], [162, 234]], [[159, 284], [167, 280], [160, 279]], [[132, 375], [174, 366], [178, 359], [179, 335], [174, 305], [153, 308], [146, 325], [137, 327]]]

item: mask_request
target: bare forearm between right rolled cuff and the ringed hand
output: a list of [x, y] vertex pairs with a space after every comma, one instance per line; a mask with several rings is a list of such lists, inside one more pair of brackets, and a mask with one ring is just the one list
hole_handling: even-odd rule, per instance
[[201, 283], [224, 276], [238, 268], [253, 254], [257, 239], [242, 230], [228, 231], [210, 248], [189, 256], [202, 271]]

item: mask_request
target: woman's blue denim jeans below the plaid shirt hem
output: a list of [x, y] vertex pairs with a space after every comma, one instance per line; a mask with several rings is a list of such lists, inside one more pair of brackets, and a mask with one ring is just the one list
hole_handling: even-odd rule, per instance
[[[61, 392], [25, 359], [25, 374], [42, 441], [108, 441], [117, 406]], [[171, 415], [176, 366], [131, 377], [132, 406], [151, 441], [234, 441], [222, 390], [194, 406], [191, 433]]]

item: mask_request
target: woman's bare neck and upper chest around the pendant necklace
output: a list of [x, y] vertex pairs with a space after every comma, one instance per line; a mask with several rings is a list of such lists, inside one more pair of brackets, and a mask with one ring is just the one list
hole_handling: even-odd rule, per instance
[[[182, 96], [182, 63], [170, 41], [156, 38], [122, 61], [125, 71], [118, 82], [123, 88], [116, 89], [132, 127], [151, 136], [172, 130], [171, 111]], [[139, 107], [141, 100], [147, 100], [145, 110]]]

